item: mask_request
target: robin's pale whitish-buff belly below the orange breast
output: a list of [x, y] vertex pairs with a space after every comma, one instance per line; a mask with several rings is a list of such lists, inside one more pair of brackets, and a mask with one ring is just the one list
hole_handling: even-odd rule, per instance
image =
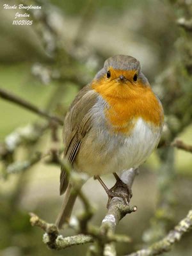
[[82, 143], [74, 168], [93, 176], [138, 167], [157, 147], [160, 136], [161, 128], [152, 127], [141, 118], [127, 137], [96, 127]]

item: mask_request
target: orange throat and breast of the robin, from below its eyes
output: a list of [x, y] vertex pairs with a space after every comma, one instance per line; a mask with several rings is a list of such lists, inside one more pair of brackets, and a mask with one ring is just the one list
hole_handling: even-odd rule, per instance
[[138, 118], [155, 126], [163, 123], [163, 109], [150, 86], [138, 84], [120, 83], [113, 79], [93, 81], [92, 88], [98, 92], [109, 108], [104, 109], [106, 118], [113, 129], [118, 132], [131, 132]]

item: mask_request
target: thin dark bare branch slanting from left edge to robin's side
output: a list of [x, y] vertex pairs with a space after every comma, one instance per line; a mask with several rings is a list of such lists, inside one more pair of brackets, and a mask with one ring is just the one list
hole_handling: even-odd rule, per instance
[[36, 107], [35, 105], [31, 104], [30, 102], [28, 102], [16, 95], [13, 95], [10, 92], [6, 92], [5, 90], [3, 90], [1, 88], [0, 88], [0, 97], [2, 99], [8, 100], [10, 102], [14, 102], [15, 104], [22, 106], [23, 108], [26, 108], [26, 109], [32, 111], [33, 113], [43, 116], [44, 118], [47, 118], [47, 119], [54, 121], [60, 125], [63, 125], [63, 120], [61, 120], [58, 116], [50, 115], [46, 111]]

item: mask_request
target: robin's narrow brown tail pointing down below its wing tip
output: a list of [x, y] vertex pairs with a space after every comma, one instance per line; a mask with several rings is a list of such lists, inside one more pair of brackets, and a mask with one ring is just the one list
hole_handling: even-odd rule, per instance
[[76, 198], [76, 191], [74, 191], [71, 184], [68, 184], [65, 198], [61, 206], [61, 211], [56, 220], [56, 227], [61, 228], [65, 222], [68, 222], [70, 220], [70, 214], [76, 202]]

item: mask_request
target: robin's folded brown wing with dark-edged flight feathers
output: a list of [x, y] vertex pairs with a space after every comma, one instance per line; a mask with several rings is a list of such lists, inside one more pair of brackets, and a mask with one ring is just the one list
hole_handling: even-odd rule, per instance
[[[77, 152], [81, 147], [82, 139], [92, 126], [90, 109], [97, 101], [98, 94], [85, 86], [72, 102], [63, 129], [64, 157], [73, 164]], [[60, 195], [65, 193], [68, 186], [67, 172], [61, 168]]]

